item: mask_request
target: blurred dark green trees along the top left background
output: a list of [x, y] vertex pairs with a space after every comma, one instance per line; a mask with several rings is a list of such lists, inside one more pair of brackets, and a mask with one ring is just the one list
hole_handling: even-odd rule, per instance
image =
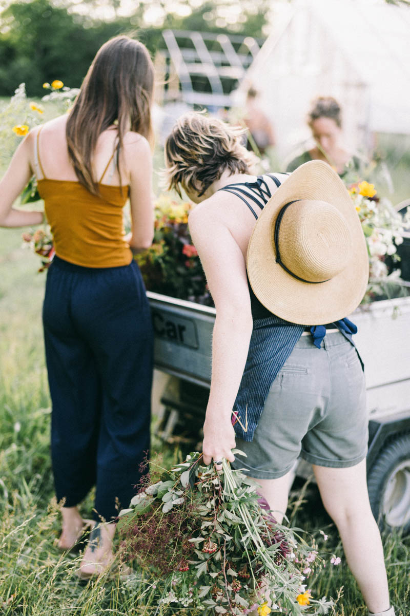
[[[224, 3], [213, 0], [199, 4], [189, 0], [181, 10], [175, 2], [169, 6], [161, 2], [151, 23], [146, 20], [146, 11], [152, 12], [155, 3], [148, 6], [133, 2], [132, 12], [128, 8], [127, 16], [122, 15], [119, 0], [102, 4], [95, 0], [81, 3], [31, 0], [6, 6], [0, 2], [0, 96], [12, 95], [22, 82], [29, 96], [44, 94], [42, 83], [51, 83], [53, 79], [61, 79], [69, 87], [81, 86], [97, 49], [117, 34], [138, 36], [152, 55], [164, 46], [164, 28], [204, 30], [205, 23], [208, 32], [232, 31], [259, 38], [270, 3], [269, 0], [249, 4], [240, 0]], [[223, 18], [224, 5], [237, 16], [232, 23]], [[237, 5], [236, 11], [232, 5]]]

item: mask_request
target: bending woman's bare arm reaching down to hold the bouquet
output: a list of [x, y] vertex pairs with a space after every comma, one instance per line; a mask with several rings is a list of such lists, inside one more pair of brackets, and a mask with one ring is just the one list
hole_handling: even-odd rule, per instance
[[189, 230], [216, 307], [212, 376], [203, 426], [203, 460], [234, 460], [231, 413], [245, 368], [253, 321], [242, 251], [224, 222], [203, 203], [189, 215]]

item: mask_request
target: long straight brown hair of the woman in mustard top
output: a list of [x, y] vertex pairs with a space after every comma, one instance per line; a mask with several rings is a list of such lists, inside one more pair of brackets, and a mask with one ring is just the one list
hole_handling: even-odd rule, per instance
[[91, 161], [101, 132], [114, 122], [118, 124], [117, 151], [127, 131], [139, 132], [152, 144], [153, 88], [154, 67], [142, 43], [116, 36], [100, 47], [66, 126], [68, 154], [76, 176], [93, 194], [98, 193], [98, 183]]

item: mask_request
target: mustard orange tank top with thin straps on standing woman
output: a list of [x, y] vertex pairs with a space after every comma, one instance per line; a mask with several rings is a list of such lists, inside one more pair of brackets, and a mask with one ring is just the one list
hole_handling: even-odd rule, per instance
[[[52, 180], [45, 176], [39, 156], [37, 132], [34, 163], [41, 169], [37, 180], [39, 195], [54, 240], [55, 254], [83, 267], [119, 267], [132, 261], [132, 252], [124, 240], [123, 208], [129, 186], [101, 184], [109, 164], [98, 182], [100, 194], [93, 195], [75, 180]], [[38, 175], [38, 174], [37, 174]]]

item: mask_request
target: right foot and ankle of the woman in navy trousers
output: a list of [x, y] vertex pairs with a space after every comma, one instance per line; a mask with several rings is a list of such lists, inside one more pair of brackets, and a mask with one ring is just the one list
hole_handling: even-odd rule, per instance
[[79, 576], [83, 578], [100, 575], [114, 561], [112, 553], [112, 539], [116, 532], [116, 525], [112, 522], [96, 524], [90, 532], [89, 543], [82, 557], [79, 567]]

